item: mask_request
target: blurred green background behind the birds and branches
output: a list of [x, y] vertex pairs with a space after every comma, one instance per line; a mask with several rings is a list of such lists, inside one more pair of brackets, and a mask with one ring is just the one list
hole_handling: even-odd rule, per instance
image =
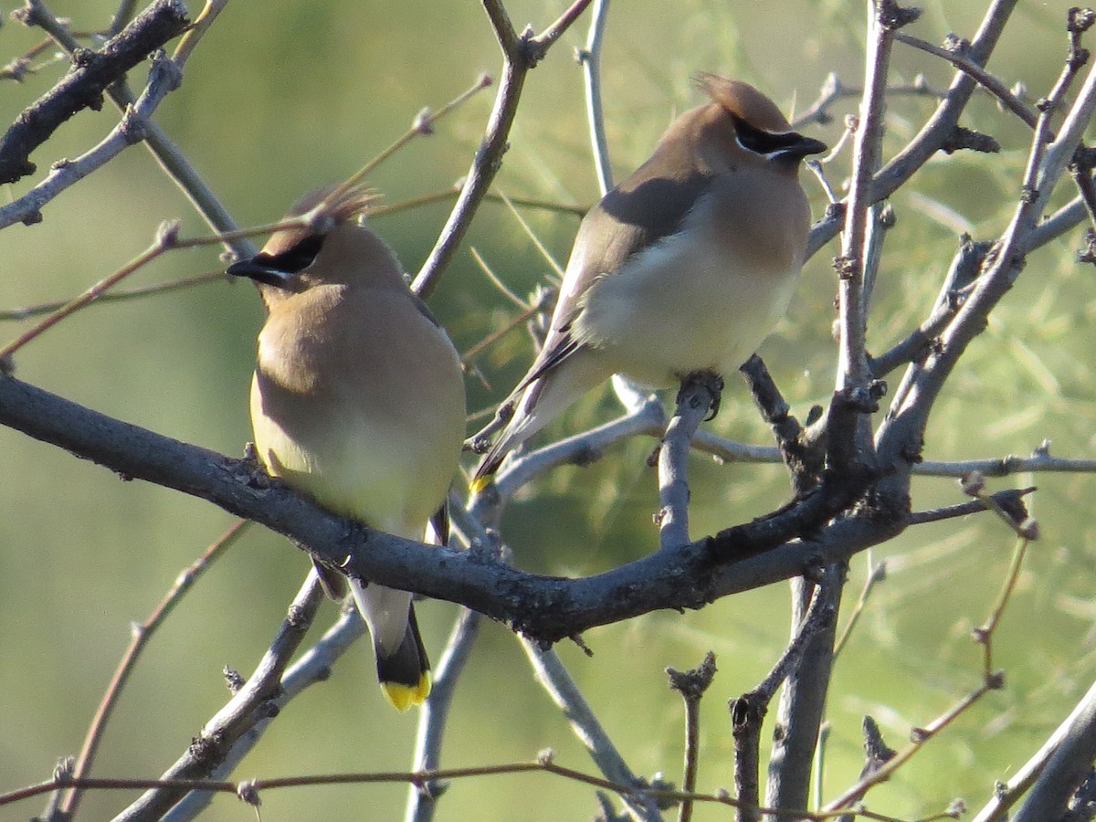
[[[7, 12], [15, 5], [9, 0]], [[112, 0], [56, 2], [77, 28], [105, 26]], [[197, 4], [191, 3], [192, 12]], [[932, 42], [948, 32], [971, 36], [983, 3], [929, 0], [910, 28]], [[511, 0], [511, 18], [537, 30], [563, 2]], [[675, 3], [632, 0], [609, 16], [604, 84], [609, 145], [618, 178], [650, 152], [661, 130], [699, 102], [689, 78], [711, 70], [752, 81], [788, 111], [803, 110], [826, 73], [859, 82], [863, 3], [797, 0], [776, 5], [726, 0]], [[991, 68], [1007, 83], [1044, 93], [1064, 54], [1066, 4], [1020, 3]], [[496, 186], [513, 196], [589, 205], [597, 197], [583, 119], [581, 72], [572, 52], [585, 20], [528, 78]], [[0, 28], [2, 60], [41, 39], [15, 23]], [[187, 66], [182, 89], [160, 107], [158, 122], [243, 225], [270, 221], [306, 190], [341, 179], [389, 145], [423, 105], [438, 106], [477, 75], [498, 76], [500, 53], [473, 0], [266, 0], [230, 3]], [[22, 84], [0, 89], [0, 122], [13, 117], [57, 79], [46, 65]], [[918, 53], [895, 49], [893, 80], [924, 72], [935, 88], [950, 70]], [[144, 68], [133, 72], [135, 85]], [[480, 94], [443, 122], [437, 135], [413, 142], [372, 176], [388, 202], [443, 190], [467, 170], [493, 92]], [[812, 128], [831, 142], [837, 125]], [[922, 99], [891, 100], [888, 156], [904, 145], [932, 110]], [[110, 106], [64, 126], [33, 159], [45, 170], [98, 141], [116, 122]], [[927, 311], [960, 230], [992, 239], [1019, 190], [1028, 135], [986, 99], [964, 125], [1003, 145], [992, 159], [935, 158], [893, 199], [898, 227], [889, 235], [869, 341], [882, 351]], [[842, 182], [847, 161], [830, 168]], [[8, 186], [14, 198], [41, 179]], [[824, 197], [807, 181], [815, 216]], [[374, 227], [410, 271], [422, 263], [447, 214], [444, 205], [378, 218]], [[576, 226], [572, 216], [525, 210], [549, 252], [564, 262]], [[206, 231], [183, 195], [141, 147], [81, 182], [44, 209], [44, 221], [0, 232], [0, 308], [79, 293], [135, 256], [162, 219], [181, 218], [185, 235]], [[1093, 450], [1096, 404], [1091, 390], [1091, 275], [1073, 263], [1078, 232], [1029, 262], [985, 334], [972, 346], [938, 404], [926, 443], [929, 459], [1026, 454], [1051, 438], [1060, 456]], [[550, 267], [501, 206], [487, 205], [432, 307], [458, 347], [501, 327], [514, 309], [478, 270], [475, 247], [518, 294]], [[833, 384], [830, 339], [834, 283], [823, 250], [777, 335], [762, 349], [800, 416]], [[145, 285], [216, 269], [215, 250], [180, 251], [130, 279]], [[254, 336], [262, 320], [247, 284], [217, 283], [170, 296], [90, 308], [18, 356], [21, 378], [91, 408], [186, 442], [240, 455], [248, 441], [247, 391]], [[4, 339], [26, 323], [0, 324]], [[479, 361], [491, 389], [469, 379], [469, 408], [486, 409], [506, 392], [529, 361], [521, 334]], [[892, 383], [897, 380], [892, 377]], [[591, 397], [553, 426], [557, 434], [607, 419], [607, 392]], [[729, 380], [721, 433], [766, 444], [769, 436], [737, 380]], [[535, 571], [593, 573], [654, 547], [655, 481], [643, 467], [651, 442], [636, 442], [587, 469], [563, 468], [538, 481], [507, 512], [504, 533], [515, 562]], [[178, 573], [232, 518], [198, 500], [109, 471], [57, 448], [0, 429], [0, 790], [46, 778], [55, 760], [76, 753], [118, 657], [129, 625], [144, 619]], [[783, 503], [778, 467], [693, 464], [694, 533], [749, 520]], [[869, 797], [874, 810], [916, 817], [957, 796], [973, 806], [990, 796], [1038, 747], [1093, 677], [1096, 607], [1093, 517], [1087, 477], [1043, 475], [1031, 501], [1042, 526], [997, 637], [996, 665], [1008, 686], [994, 693]], [[995, 482], [1026, 484], [1031, 477]], [[944, 479], [915, 483], [917, 509], [961, 501]], [[989, 516], [910, 529], [876, 549], [889, 575], [840, 660], [830, 700], [833, 734], [825, 794], [850, 784], [861, 765], [859, 727], [875, 716], [899, 746], [911, 726], [937, 716], [979, 681], [980, 650], [968, 638], [984, 618], [1007, 568], [1014, 539]], [[222, 705], [220, 670], [250, 673], [306, 570], [305, 558], [259, 528], [221, 559], [156, 635], [111, 722], [95, 774], [152, 777], [179, 755]], [[847, 616], [868, 561], [853, 563]], [[335, 616], [326, 605], [320, 623]], [[607, 730], [638, 773], [680, 779], [683, 710], [667, 690], [666, 665], [690, 667], [716, 652], [719, 674], [704, 704], [699, 787], [731, 784], [727, 700], [753, 687], [775, 661], [788, 631], [787, 586], [720, 601], [701, 612], [658, 613], [591, 631], [585, 658], [560, 652]], [[420, 621], [435, 659], [455, 608], [425, 603]], [[317, 635], [318, 636], [318, 635]], [[416, 716], [384, 704], [373, 661], [355, 648], [331, 680], [309, 689], [273, 723], [239, 776], [275, 776], [408, 767]], [[767, 737], [767, 732], [765, 734]], [[520, 646], [488, 625], [454, 706], [444, 764], [525, 761], [552, 747], [559, 761], [593, 770], [581, 745], [533, 681]], [[271, 791], [263, 819], [397, 819], [402, 786], [347, 786]], [[93, 794], [87, 819], [109, 818], [122, 794]], [[34, 801], [0, 809], [25, 819]], [[544, 775], [455, 783], [438, 819], [585, 819], [590, 789]], [[730, 811], [697, 810], [698, 819]], [[210, 818], [252, 819], [233, 798], [215, 800]]]

